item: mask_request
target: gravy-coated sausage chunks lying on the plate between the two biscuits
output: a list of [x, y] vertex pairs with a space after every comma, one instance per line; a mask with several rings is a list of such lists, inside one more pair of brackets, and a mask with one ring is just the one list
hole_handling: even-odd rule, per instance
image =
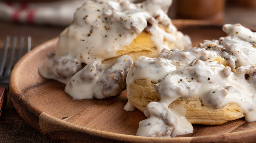
[[108, 70], [94, 60], [78, 71], [65, 87], [73, 99], [103, 99], [117, 96], [126, 88], [126, 76], [132, 66], [132, 58], [121, 56]]

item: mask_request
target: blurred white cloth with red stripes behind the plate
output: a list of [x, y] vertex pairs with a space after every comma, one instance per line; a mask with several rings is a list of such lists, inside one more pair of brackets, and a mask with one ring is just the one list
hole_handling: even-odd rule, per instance
[[19, 23], [68, 26], [76, 8], [85, 0], [63, 0], [46, 3], [0, 2], [0, 19]]

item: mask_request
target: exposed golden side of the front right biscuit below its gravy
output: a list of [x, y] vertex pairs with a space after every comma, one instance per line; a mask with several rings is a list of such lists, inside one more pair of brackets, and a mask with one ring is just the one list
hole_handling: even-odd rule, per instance
[[[139, 79], [131, 85], [129, 101], [140, 111], [149, 102], [160, 100], [154, 83], [150, 79]], [[192, 124], [220, 125], [230, 120], [245, 117], [242, 109], [235, 103], [228, 103], [224, 108], [214, 109], [203, 105], [198, 96], [179, 98], [169, 105], [169, 108], [181, 105], [185, 108], [186, 118]]]

